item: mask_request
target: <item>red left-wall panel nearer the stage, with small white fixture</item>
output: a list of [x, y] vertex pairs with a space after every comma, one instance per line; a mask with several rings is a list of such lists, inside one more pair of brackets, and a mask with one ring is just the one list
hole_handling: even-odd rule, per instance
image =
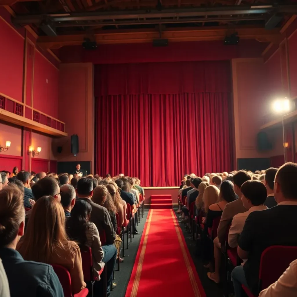
[[33, 107], [58, 118], [59, 70], [35, 51]]

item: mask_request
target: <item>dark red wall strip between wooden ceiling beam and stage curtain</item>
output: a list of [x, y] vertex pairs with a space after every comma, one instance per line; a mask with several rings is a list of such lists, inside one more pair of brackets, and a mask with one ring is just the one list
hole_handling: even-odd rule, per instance
[[224, 45], [222, 41], [170, 42], [168, 47], [153, 47], [151, 43], [105, 44], [87, 51], [82, 46], [65, 46], [60, 48], [59, 58], [63, 63], [93, 64], [230, 60], [260, 57], [266, 46], [256, 40], [241, 40], [238, 45]]

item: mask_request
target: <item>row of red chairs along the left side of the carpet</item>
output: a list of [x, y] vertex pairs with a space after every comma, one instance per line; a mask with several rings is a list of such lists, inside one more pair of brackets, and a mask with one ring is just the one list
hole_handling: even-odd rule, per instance
[[[139, 207], [138, 207], [138, 219], [137, 222], [135, 222], [135, 224], [138, 225], [138, 223], [140, 222], [140, 220], [143, 218], [144, 215], [144, 199], [142, 197], [142, 195], [139, 195]], [[132, 237], [134, 238], [134, 235], [132, 236], [132, 224], [133, 221], [135, 220], [135, 216], [132, 217], [132, 210], [131, 210], [131, 206], [129, 204], [127, 204], [127, 220], [126, 222], [124, 222], [124, 226], [119, 226], [119, 215], [116, 214], [116, 220], [118, 223], [118, 228], [116, 230], [116, 233], [121, 236], [122, 239], [122, 256], [124, 257], [124, 249], [125, 249], [125, 229], [127, 231], [127, 239], [126, 239], [126, 249], [129, 248], [129, 232], [131, 233], [130, 236], [130, 242], [132, 242]], [[106, 244], [106, 238], [105, 238], [105, 232], [100, 232], [99, 233], [100, 236], [100, 240], [101, 240], [101, 244], [105, 245]], [[80, 253], [81, 253], [81, 259], [82, 259], [82, 265], [83, 265], [83, 278], [84, 281], [87, 284], [87, 287], [90, 288], [91, 290], [91, 296], [94, 296], [94, 283], [97, 280], [97, 277], [94, 276], [93, 273], [93, 258], [92, 258], [92, 251], [90, 247], [80, 247]], [[117, 271], [120, 271], [120, 260], [119, 257], [117, 259], [117, 265], [118, 265], [118, 269]], [[78, 294], [73, 294], [72, 290], [71, 290], [71, 277], [70, 277], [70, 273], [67, 270], [67, 268], [61, 266], [61, 265], [53, 265], [53, 269], [56, 272], [61, 285], [63, 287], [63, 291], [64, 291], [64, 297], [86, 297], [89, 295], [89, 289], [88, 288], [84, 288], [83, 290], [80, 291], [80, 293]], [[101, 269], [101, 271], [98, 271], [101, 280], [103, 281], [103, 292], [100, 296], [104, 296], [106, 297], [106, 289], [107, 289], [107, 281], [106, 281], [106, 270], [104, 268]], [[110, 290], [112, 290], [112, 284], [110, 286]]]

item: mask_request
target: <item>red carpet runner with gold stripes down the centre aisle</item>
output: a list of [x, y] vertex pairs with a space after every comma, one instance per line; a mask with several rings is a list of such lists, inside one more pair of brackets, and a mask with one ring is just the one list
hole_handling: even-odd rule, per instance
[[205, 297], [172, 209], [151, 209], [125, 297]]

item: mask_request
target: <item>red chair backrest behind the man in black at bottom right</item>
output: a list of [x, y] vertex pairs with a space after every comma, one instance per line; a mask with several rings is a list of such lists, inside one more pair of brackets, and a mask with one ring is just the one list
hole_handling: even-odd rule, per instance
[[274, 245], [266, 248], [260, 260], [259, 289], [266, 289], [276, 282], [296, 259], [297, 247]]

